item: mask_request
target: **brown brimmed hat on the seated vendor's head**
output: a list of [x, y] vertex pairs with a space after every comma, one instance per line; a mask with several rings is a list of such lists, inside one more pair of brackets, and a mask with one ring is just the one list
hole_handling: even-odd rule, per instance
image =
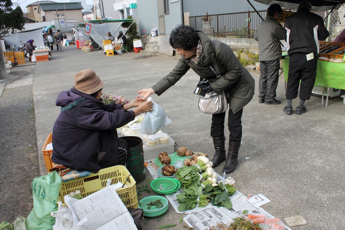
[[74, 74], [74, 88], [83, 93], [92, 94], [102, 89], [104, 82], [93, 69], [83, 69]]

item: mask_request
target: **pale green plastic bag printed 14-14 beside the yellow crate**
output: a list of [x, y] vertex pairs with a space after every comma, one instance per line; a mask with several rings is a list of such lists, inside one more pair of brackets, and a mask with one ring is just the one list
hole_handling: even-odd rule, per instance
[[53, 229], [55, 218], [51, 217], [50, 213], [58, 210], [60, 185], [61, 177], [56, 171], [33, 179], [33, 209], [25, 221], [27, 230]]

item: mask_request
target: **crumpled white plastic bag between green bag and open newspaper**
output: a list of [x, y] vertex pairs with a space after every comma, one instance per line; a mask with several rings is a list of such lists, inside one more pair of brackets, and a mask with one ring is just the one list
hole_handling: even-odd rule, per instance
[[82, 224], [87, 221], [87, 218], [84, 218], [73, 226], [73, 216], [71, 210], [69, 210], [69, 208], [66, 206], [62, 206], [61, 201], [58, 202], [58, 205], [58, 210], [50, 213], [50, 216], [55, 217], [53, 230], [85, 230]]

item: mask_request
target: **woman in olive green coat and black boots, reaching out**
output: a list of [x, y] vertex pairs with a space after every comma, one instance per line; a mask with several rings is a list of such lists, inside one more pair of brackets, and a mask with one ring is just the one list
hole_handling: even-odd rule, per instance
[[[215, 147], [213, 167], [227, 160], [223, 171], [233, 172], [237, 165], [238, 149], [242, 138], [243, 107], [252, 100], [255, 81], [250, 73], [239, 63], [233, 50], [225, 43], [207, 37], [203, 32], [196, 32], [193, 27], [179, 26], [171, 31], [169, 43], [181, 58], [176, 67], [166, 77], [159, 80], [152, 88], [142, 89], [137, 97], [145, 100], [151, 94], [158, 96], [173, 86], [191, 68], [201, 78], [209, 81], [207, 92], [228, 93], [229, 150], [226, 158], [224, 121], [225, 112], [212, 115], [211, 137]], [[213, 60], [217, 61], [220, 78], [211, 69]], [[227, 94], [226, 93], [226, 94]]]

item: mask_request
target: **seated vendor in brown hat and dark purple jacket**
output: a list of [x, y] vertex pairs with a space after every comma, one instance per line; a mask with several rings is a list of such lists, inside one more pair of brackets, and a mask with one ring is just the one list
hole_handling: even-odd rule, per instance
[[95, 71], [84, 69], [74, 75], [74, 87], [59, 94], [56, 105], [61, 112], [52, 136], [54, 163], [90, 172], [128, 163], [128, 143], [118, 138], [116, 128], [152, 111], [153, 104], [135, 99], [123, 106], [106, 105], [101, 98], [103, 86]]

